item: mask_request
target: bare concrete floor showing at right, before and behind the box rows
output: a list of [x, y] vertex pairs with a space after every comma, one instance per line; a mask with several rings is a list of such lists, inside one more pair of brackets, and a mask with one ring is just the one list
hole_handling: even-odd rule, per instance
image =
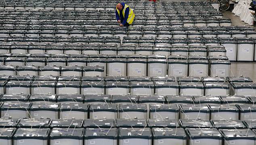
[[[249, 26], [248, 24], [240, 21], [239, 17], [234, 16], [230, 11], [223, 11], [223, 17], [231, 19], [234, 26]], [[252, 27], [252, 26], [250, 26]], [[256, 27], [254, 27], [256, 29]], [[231, 76], [250, 77], [253, 81], [256, 81], [256, 62], [232, 62], [231, 63]]]

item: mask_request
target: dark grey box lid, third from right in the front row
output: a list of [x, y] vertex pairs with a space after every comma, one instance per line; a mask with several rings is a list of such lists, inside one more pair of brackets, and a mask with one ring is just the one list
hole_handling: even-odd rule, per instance
[[153, 128], [153, 139], [187, 139], [186, 132], [183, 128]]

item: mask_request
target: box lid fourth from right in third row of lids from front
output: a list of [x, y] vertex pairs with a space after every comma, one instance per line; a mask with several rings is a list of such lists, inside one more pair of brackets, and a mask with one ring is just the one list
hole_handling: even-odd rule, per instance
[[[150, 112], [178, 112], [176, 104], [149, 104]], [[171, 118], [165, 118], [171, 119]]]

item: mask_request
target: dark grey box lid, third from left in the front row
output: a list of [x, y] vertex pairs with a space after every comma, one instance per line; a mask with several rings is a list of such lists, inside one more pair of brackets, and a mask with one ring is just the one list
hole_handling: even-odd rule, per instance
[[78, 139], [84, 137], [84, 128], [52, 128], [50, 139]]

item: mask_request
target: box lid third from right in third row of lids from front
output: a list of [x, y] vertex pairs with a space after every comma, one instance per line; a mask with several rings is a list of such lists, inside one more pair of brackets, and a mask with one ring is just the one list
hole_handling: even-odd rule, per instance
[[207, 104], [179, 104], [179, 109], [182, 110], [183, 113], [187, 112], [202, 112], [202, 113], [210, 113], [210, 109]]

